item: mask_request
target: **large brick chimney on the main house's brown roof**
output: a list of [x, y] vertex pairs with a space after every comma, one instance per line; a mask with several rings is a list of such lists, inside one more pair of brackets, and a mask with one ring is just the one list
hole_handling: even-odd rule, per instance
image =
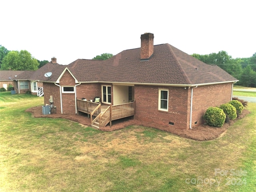
[[144, 33], [140, 36], [141, 48], [140, 48], [140, 60], [146, 61], [153, 55], [154, 52], [154, 34]]

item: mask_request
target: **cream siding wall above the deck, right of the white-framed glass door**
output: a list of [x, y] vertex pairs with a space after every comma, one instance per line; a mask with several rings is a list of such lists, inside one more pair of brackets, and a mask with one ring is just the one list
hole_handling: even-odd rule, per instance
[[128, 103], [128, 86], [114, 85], [114, 105]]

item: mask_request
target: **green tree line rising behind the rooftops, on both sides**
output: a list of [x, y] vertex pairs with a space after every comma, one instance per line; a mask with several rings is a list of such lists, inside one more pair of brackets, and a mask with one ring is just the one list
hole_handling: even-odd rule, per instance
[[[92, 58], [106, 60], [113, 54], [103, 53]], [[191, 56], [206, 64], [214, 64], [234, 76], [239, 81], [237, 85], [256, 87], [256, 53], [250, 58], [233, 59], [226, 51], [206, 55], [192, 54]], [[0, 45], [0, 70], [37, 70], [48, 63], [48, 60], [36, 60], [26, 50], [10, 51]]]

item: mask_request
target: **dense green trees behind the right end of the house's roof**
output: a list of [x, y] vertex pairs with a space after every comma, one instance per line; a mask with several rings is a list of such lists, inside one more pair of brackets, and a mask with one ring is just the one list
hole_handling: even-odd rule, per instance
[[237, 85], [256, 87], [256, 53], [250, 58], [233, 59], [226, 51], [206, 55], [192, 54], [191, 56], [206, 63], [217, 65], [238, 79]]

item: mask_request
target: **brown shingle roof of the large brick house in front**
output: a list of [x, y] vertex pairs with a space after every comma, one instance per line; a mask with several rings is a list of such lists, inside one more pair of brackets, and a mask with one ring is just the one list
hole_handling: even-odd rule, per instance
[[[136, 48], [104, 61], [78, 59], [68, 65], [49, 62], [29, 79], [56, 82], [66, 67], [78, 82], [192, 85], [237, 81], [218, 66], [205, 64], [170, 44], [155, 45], [148, 61], [140, 61], [140, 48]], [[45, 77], [46, 72], [52, 72], [52, 76]]]

